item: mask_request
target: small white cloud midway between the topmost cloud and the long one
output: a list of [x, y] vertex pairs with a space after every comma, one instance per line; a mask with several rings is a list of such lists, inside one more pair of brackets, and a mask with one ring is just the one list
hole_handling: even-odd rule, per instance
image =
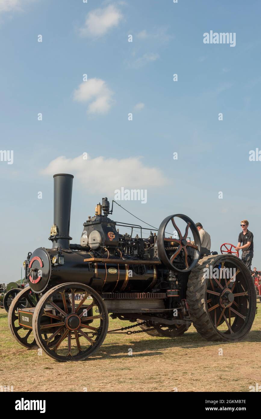
[[73, 98], [77, 102], [91, 102], [88, 106], [89, 114], [105, 114], [113, 104], [113, 91], [104, 80], [92, 78], [82, 82], [74, 91]]

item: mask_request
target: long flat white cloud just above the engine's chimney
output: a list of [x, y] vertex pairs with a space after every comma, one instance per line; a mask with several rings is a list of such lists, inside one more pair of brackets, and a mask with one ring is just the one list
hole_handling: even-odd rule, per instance
[[139, 157], [90, 158], [88, 155], [88, 159], [84, 160], [82, 155], [76, 158], [60, 156], [52, 160], [41, 173], [72, 173], [88, 189], [88, 193], [99, 191], [112, 194], [122, 186], [140, 189], [169, 183], [161, 170], [145, 166]]

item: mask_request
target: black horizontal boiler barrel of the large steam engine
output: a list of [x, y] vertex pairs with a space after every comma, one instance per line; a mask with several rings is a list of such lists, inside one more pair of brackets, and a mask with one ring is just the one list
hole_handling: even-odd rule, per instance
[[88, 263], [84, 262], [84, 259], [93, 258], [92, 253], [66, 250], [61, 251], [63, 264], [59, 264], [57, 261], [53, 263], [54, 256], [59, 262], [56, 251], [56, 248], [38, 248], [32, 253], [28, 269], [34, 270], [31, 279], [29, 278], [30, 287], [34, 292], [39, 293], [46, 287], [66, 282], [89, 285], [97, 292], [148, 292], [156, 283], [155, 266], [141, 265], [137, 269], [130, 264], [110, 263], [110, 259], [108, 263]]

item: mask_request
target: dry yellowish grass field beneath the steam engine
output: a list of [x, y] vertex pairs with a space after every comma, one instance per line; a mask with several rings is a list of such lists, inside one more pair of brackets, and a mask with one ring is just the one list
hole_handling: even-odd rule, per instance
[[[13, 391], [249, 391], [261, 385], [259, 300], [257, 307], [241, 342], [208, 342], [193, 326], [176, 339], [109, 334], [95, 356], [66, 363], [20, 346], [1, 309], [0, 385], [13, 385]], [[109, 330], [130, 324], [110, 319]]]

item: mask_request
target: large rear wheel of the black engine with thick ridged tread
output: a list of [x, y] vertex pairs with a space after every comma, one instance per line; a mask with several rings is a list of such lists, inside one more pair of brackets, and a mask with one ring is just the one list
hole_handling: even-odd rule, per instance
[[256, 313], [251, 274], [235, 256], [207, 256], [189, 276], [187, 303], [193, 325], [205, 339], [241, 340]]

